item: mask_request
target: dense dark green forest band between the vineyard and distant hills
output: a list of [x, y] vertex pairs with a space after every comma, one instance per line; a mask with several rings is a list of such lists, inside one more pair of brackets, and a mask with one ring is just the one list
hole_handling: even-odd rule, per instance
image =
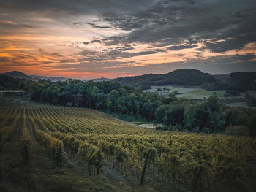
[[226, 131], [228, 134], [256, 135], [256, 112], [251, 109], [218, 104], [216, 96], [197, 104], [187, 99], [156, 96], [116, 82], [65, 82], [15, 79], [0, 76], [1, 88], [23, 89], [34, 101], [67, 107], [86, 107], [125, 118], [144, 119], [155, 123], [159, 130], [203, 133]]

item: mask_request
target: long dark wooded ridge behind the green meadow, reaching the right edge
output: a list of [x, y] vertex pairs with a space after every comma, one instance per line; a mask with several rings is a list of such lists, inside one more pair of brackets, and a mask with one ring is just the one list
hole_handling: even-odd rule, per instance
[[256, 90], [256, 72], [233, 72], [230, 74], [208, 74], [196, 69], [178, 69], [167, 74], [144, 74], [135, 77], [118, 77], [113, 80], [143, 90], [151, 86], [184, 85], [200, 86], [212, 90]]

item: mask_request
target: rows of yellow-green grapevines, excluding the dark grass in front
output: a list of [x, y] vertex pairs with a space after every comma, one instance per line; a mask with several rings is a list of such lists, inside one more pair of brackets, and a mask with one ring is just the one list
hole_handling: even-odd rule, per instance
[[256, 189], [254, 137], [143, 129], [82, 108], [1, 107], [0, 151], [14, 135], [20, 136], [23, 164], [34, 158], [32, 142], [38, 142], [59, 168], [67, 153], [92, 176], [112, 169], [140, 185], [162, 183], [184, 191]]

